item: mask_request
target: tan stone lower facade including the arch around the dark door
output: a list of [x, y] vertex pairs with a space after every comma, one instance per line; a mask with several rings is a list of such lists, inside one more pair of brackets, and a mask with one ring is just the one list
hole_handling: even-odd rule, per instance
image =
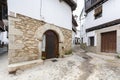
[[42, 36], [53, 30], [59, 37], [59, 54], [72, 48], [72, 30], [16, 14], [9, 16], [9, 64], [41, 59]]

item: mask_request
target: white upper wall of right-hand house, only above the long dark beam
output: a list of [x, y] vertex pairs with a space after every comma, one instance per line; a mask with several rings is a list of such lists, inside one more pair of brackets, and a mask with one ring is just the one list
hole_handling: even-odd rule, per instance
[[94, 10], [88, 13], [85, 21], [86, 28], [113, 21], [120, 18], [120, 0], [108, 0], [103, 5], [102, 17], [94, 19]]

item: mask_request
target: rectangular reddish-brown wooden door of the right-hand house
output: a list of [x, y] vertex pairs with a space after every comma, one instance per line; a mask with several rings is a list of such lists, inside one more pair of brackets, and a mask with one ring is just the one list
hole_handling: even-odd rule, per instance
[[116, 52], [116, 31], [101, 34], [101, 51], [108, 53]]

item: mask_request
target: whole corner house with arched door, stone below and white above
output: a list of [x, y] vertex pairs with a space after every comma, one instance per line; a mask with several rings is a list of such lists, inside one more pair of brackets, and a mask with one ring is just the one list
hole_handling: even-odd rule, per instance
[[8, 0], [9, 71], [70, 52], [76, 6], [75, 0]]

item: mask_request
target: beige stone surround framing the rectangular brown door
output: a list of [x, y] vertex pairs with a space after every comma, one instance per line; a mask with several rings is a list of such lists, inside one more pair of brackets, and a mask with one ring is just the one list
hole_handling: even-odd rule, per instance
[[120, 24], [114, 25], [108, 28], [103, 28], [95, 31], [95, 34], [97, 35], [97, 45], [94, 47], [87, 47], [87, 51], [95, 52], [95, 53], [101, 53], [101, 33], [110, 32], [110, 31], [116, 31], [117, 32], [117, 53], [120, 53]]

